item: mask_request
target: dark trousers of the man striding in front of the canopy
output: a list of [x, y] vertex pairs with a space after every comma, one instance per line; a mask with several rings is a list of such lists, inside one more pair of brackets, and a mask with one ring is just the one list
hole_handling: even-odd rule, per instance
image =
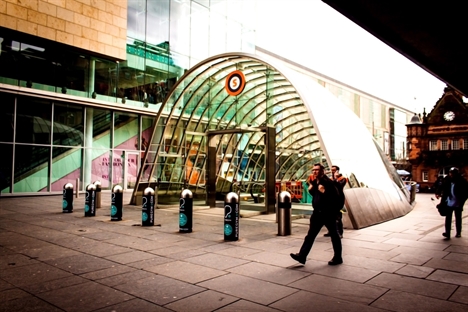
[[307, 257], [310, 250], [312, 249], [312, 245], [314, 244], [315, 238], [317, 237], [318, 233], [324, 225], [328, 229], [328, 233], [330, 233], [330, 237], [332, 240], [334, 252], [333, 259], [341, 259], [342, 247], [340, 236], [338, 235], [338, 231], [336, 230], [336, 216], [327, 215], [316, 210], [314, 210], [312, 216], [310, 216], [309, 231], [307, 232], [307, 236], [305, 237], [304, 243], [302, 244], [301, 250], [299, 251], [301, 257]]

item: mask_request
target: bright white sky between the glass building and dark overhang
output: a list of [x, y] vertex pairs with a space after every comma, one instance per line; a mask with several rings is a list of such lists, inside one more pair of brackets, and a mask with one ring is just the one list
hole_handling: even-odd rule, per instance
[[417, 113], [445, 83], [320, 0], [259, 0], [257, 45]]

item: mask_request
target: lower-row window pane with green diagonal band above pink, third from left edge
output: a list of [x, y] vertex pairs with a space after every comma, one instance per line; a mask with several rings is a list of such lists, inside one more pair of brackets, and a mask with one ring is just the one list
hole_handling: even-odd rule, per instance
[[52, 154], [52, 185], [50, 190], [52, 192], [62, 191], [63, 186], [67, 183], [73, 184], [76, 189], [76, 179], [81, 181], [83, 149], [53, 147]]

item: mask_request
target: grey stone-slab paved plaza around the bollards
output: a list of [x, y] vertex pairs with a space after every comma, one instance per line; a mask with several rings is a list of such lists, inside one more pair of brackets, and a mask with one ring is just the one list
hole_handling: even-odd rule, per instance
[[404, 217], [346, 229], [338, 266], [327, 265], [325, 228], [305, 265], [290, 258], [308, 217], [278, 236], [275, 215], [251, 214], [227, 242], [223, 208], [196, 206], [193, 232], [179, 233], [178, 206], [158, 207], [142, 227], [138, 206], [110, 221], [106, 192], [95, 217], [84, 217], [83, 195], [68, 214], [62, 196], [3, 197], [0, 311], [466, 312], [467, 207], [462, 237], [444, 241], [431, 196], [417, 194]]

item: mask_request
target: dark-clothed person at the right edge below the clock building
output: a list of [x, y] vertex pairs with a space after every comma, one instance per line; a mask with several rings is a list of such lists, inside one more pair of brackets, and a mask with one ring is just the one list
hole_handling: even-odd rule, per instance
[[455, 237], [461, 237], [461, 223], [463, 205], [468, 197], [468, 182], [460, 175], [458, 168], [450, 168], [449, 174], [442, 181], [442, 185], [436, 190], [436, 198], [442, 197], [440, 202], [445, 204], [449, 211], [445, 216], [444, 240], [450, 239], [452, 229], [452, 215], [455, 212]]

